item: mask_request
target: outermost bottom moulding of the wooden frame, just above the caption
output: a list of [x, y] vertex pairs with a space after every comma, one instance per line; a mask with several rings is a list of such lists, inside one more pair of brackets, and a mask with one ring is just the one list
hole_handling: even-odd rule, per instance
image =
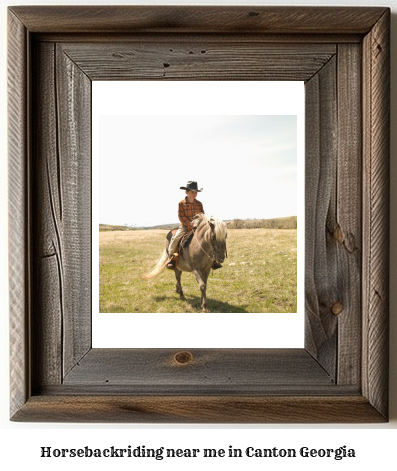
[[15, 421], [145, 423], [378, 423], [385, 419], [361, 396], [38, 396]]

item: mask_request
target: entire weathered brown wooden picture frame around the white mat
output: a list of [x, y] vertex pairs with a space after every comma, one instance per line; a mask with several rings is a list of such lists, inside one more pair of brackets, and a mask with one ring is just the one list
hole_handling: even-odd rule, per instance
[[[11, 420], [388, 419], [388, 8], [10, 7]], [[91, 348], [91, 81], [303, 80], [304, 349]]]

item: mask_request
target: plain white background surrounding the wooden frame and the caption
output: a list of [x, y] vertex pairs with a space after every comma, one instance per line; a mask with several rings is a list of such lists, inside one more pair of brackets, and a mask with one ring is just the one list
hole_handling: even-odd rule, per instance
[[[105, 424], [17, 424], [8, 420], [8, 287], [7, 287], [7, 206], [6, 206], [6, 185], [7, 185], [7, 165], [6, 165], [6, 6], [10, 4], [61, 4], [56, 0], [50, 2], [4, 2], [1, 3], [1, 160], [0, 160], [0, 192], [2, 204], [1, 210], [1, 296], [0, 296], [0, 348], [1, 348], [1, 401], [0, 401], [0, 463], [2, 469], [32, 469], [32, 470], [63, 470], [77, 469], [85, 470], [88, 467], [95, 467], [96, 470], [109, 469], [131, 470], [131, 469], [202, 469], [206, 466], [209, 469], [238, 469], [242, 466], [245, 469], [285, 469], [293, 466], [294, 469], [356, 469], [364, 466], [378, 469], [394, 469], [396, 465], [395, 444], [397, 443], [397, 290], [396, 267], [397, 256], [394, 245], [391, 247], [391, 357], [390, 357], [390, 422], [386, 425], [297, 425], [297, 426], [149, 426], [149, 425], [105, 425]], [[63, 2], [65, 4], [81, 4], [80, 1]], [[85, 4], [109, 4], [110, 0], [104, 2], [89, 2]], [[118, 2], [128, 3], [133, 2]], [[148, 1], [139, 1], [139, 4], [149, 4]], [[170, 4], [171, 2], [156, 1], [156, 4]], [[272, 1], [273, 5], [282, 4], [297, 5], [332, 5], [327, 1], [283, 2]], [[172, 4], [214, 4], [212, 2], [172, 2]], [[222, 2], [222, 5], [264, 5], [266, 2]], [[397, 3], [395, 0], [361, 0], [346, 1], [339, 0], [335, 5], [382, 5], [390, 6], [393, 13], [392, 18], [392, 141], [391, 155], [397, 153], [397, 120], [396, 120], [396, 61], [397, 61]], [[397, 167], [395, 161], [391, 161], [391, 240], [396, 240], [396, 180]], [[153, 459], [131, 461], [122, 459], [112, 459], [111, 461], [88, 460], [88, 459], [41, 459], [40, 447], [52, 446], [54, 448], [72, 448], [90, 446], [96, 447], [127, 447], [132, 445], [145, 445], [147, 447], [165, 446], [168, 448], [225, 448], [229, 445], [236, 448], [254, 446], [257, 448], [300, 448], [301, 446], [317, 448], [336, 448], [346, 445], [348, 448], [355, 448], [357, 457], [355, 459], [344, 459], [335, 461], [332, 459], [296, 458], [296, 459], [217, 459], [205, 461], [203, 459], [187, 460], [173, 459], [155, 461]], [[358, 469], [360, 469], [358, 468]]]

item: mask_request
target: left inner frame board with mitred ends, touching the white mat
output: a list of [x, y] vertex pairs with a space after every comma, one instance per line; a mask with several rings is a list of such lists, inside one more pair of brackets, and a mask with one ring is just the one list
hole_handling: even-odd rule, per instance
[[64, 375], [91, 348], [91, 81], [56, 49]]

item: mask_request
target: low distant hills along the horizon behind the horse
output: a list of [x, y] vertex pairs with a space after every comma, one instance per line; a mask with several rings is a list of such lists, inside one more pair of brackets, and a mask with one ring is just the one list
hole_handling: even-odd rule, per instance
[[[228, 222], [229, 229], [296, 229], [298, 225], [297, 216], [290, 216], [284, 218], [273, 218], [273, 219], [232, 219]], [[170, 230], [178, 227], [179, 223], [175, 222], [172, 224], [160, 224], [158, 226], [150, 227], [136, 227], [136, 226], [112, 226], [110, 224], [99, 224], [99, 231], [133, 231], [133, 230], [144, 230], [144, 229], [163, 229]]]

